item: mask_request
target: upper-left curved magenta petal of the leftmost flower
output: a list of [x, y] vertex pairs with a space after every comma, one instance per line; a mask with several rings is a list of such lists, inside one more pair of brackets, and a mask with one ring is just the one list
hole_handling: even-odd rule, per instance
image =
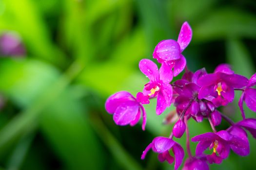
[[131, 95], [130, 93], [128, 93], [127, 91], [120, 91], [117, 92], [113, 95], [111, 95], [106, 103], [105, 103], [105, 108], [107, 110], [108, 113], [113, 114], [115, 113], [117, 107], [126, 101], [135, 101], [135, 98], [133, 97], [133, 95]]

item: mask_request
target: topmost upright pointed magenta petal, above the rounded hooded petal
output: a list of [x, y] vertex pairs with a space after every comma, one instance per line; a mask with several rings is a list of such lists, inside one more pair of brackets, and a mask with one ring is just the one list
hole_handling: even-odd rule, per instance
[[179, 35], [178, 35], [178, 44], [180, 46], [180, 51], [182, 52], [190, 43], [192, 39], [192, 29], [189, 26], [188, 22], [184, 22], [181, 26]]

